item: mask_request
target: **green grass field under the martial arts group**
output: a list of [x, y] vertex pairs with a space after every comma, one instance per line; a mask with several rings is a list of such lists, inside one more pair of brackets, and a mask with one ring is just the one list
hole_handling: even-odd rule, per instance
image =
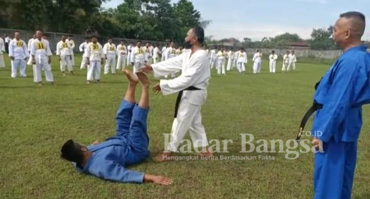
[[[284, 153], [269, 153], [274, 160], [153, 162], [151, 158], [163, 149], [162, 133], [171, 129], [175, 94], [151, 93], [148, 132], [152, 155], [131, 167], [172, 177], [173, 185], [119, 184], [79, 174], [61, 160], [60, 148], [69, 138], [89, 145], [115, 133], [115, 112], [127, 86], [125, 76], [102, 74], [101, 83], [86, 85], [86, 70], [75, 67], [76, 76], [62, 76], [53, 57], [55, 85], [36, 86], [31, 67], [27, 68], [28, 77], [10, 78], [10, 62], [5, 57], [6, 68], [0, 70], [1, 198], [312, 197], [312, 153], [301, 153], [296, 160], [287, 160]], [[80, 60], [76, 56], [76, 64]], [[264, 61], [263, 73], [258, 75], [251, 74], [251, 63], [245, 75], [212, 72], [202, 121], [209, 140], [234, 141], [227, 155], [258, 155], [239, 153], [239, 133], [252, 133], [254, 143], [294, 139], [301, 117], [311, 105], [313, 85], [330, 66], [298, 63], [297, 73], [283, 74], [279, 62], [279, 73], [269, 74], [267, 65]], [[154, 85], [152, 75], [151, 79]], [[370, 198], [368, 106], [363, 116], [353, 198]], [[306, 129], [310, 126], [311, 122]]]

